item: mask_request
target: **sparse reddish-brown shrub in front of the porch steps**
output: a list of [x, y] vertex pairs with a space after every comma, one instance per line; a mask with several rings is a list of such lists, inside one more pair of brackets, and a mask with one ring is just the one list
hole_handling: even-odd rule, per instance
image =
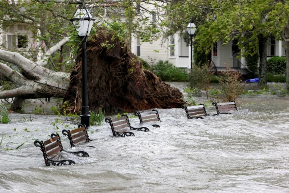
[[231, 71], [229, 66], [227, 66], [227, 70], [223, 74], [224, 77], [217, 77], [224, 94], [223, 100], [234, 101], [242, 93], [245, 83], [240, 79], [241, 74], [238, 71]]

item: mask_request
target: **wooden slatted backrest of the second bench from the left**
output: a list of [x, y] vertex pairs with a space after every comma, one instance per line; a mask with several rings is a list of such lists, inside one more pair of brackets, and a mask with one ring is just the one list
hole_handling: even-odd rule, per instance
[[74, 147], [75, 144], [81, 141], [90, 141], [85, 125], [78, 125], [77, 129], [71, 131], [64, 129], [62, 130], [62, 134], [67, 135], [71, 147]]

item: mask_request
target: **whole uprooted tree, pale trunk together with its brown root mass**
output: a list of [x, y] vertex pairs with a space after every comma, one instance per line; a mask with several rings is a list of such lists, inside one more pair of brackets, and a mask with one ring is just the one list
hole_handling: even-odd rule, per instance
[[[111, 48], [101, 46], [112, 35], [98, 32], [87, 46], [88, 96], [90, 109], [99, 107], [107, 112], [133, 111], [150, 108], [179, 108], [184, 104], [182, 93], [170, 87], [152, 72], [144, 70], [129, 49], [114, 38]], [[0, 59], [17, 65], [22, 73], [0, 63], [0, 73], [16, 88], [0, 92], [0, 98], [62, 97], [69, 101], [70, 112], [81, 111], [81, 54], [72, 73], [54, 72], [15, 52], [0, 50]]]

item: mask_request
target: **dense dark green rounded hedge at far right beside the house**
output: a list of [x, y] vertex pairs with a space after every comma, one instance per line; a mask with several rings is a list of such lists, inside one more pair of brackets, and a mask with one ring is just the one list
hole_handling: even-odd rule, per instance
[[267, 61], [267, 72], [286, 74], [286, 58], [274, 56]]

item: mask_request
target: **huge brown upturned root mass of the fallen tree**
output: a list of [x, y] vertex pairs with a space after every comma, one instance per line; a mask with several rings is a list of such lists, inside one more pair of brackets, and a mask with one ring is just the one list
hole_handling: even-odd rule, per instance
[[[105, 30], [87, 43], [88, 101], [90, 110], [106, 112], [135, 111], [152, 108], [180, 108], [185, 102], [177, 88], [170, 87], [152, 72], [144, 70], [141, 62], [124, 43]], [[109, 42], [108, 49], [101, 43]], [[81, 52], [80, 52], [81, 53]], [[70, 112], [79, 113], [82, 104], [82, 58], [70, 75], [70, 86], [64, 101]]]

